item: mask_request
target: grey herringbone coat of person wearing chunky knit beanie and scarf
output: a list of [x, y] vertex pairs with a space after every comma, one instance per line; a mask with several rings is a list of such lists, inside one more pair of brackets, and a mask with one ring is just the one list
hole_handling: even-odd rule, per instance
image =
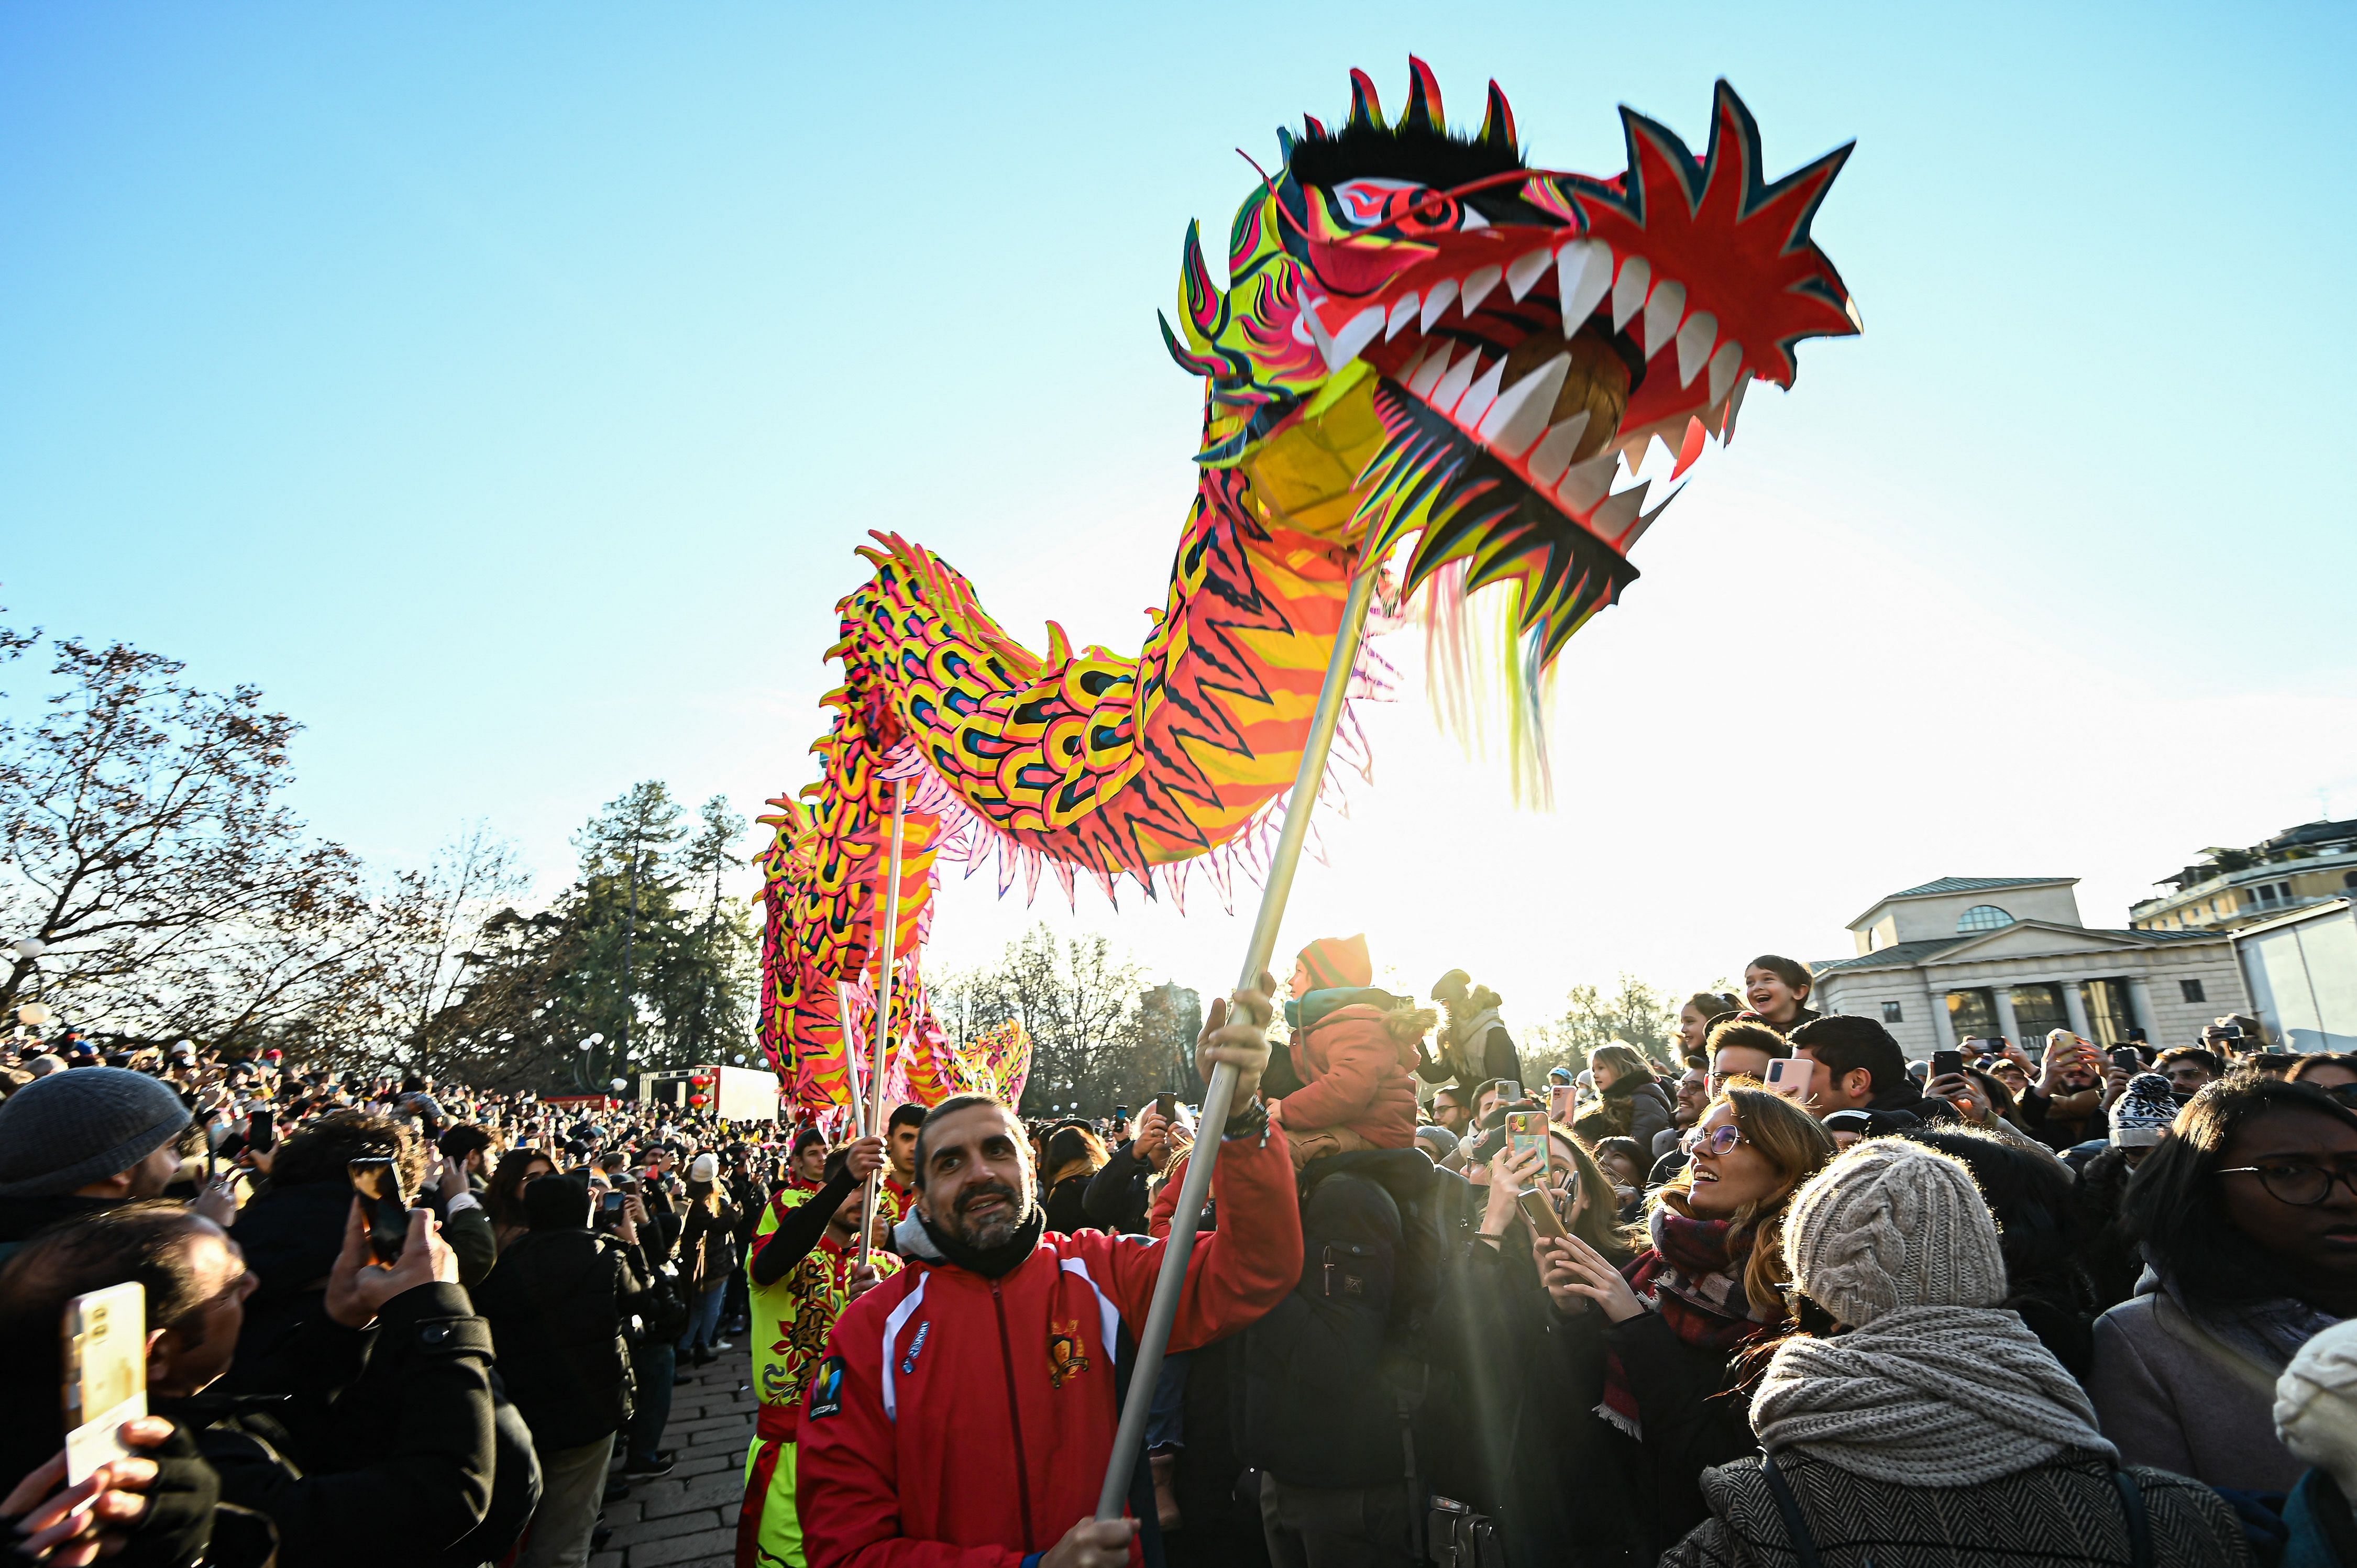
[[[2128, 1568], [2128, 1516], [2112, 1467], [2093, 1455], [1980, 1485], [1893, 1485], [1801, 1452], [1777, 1469], [1801, 1504], [1824, 1568]], [[2253, 1568], [2234, 1511], [2197, 1481], [2133, 1469], [2157, 1568]], [[1794, 1568], [1798, 1556], [1761, 1462], [1702, 1471], [1711, 1516], [1662, 1554], [1662, 1568]]]

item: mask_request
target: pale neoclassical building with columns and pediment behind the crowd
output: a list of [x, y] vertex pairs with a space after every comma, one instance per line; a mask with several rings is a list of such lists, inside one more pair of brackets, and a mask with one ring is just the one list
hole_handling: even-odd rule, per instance
[[2227, 931], [2100, 929], [2079, 920], [2077, 877], [1940, 877], [1850, 922], [1857, 955], [1813, 964], [1813, 1004], [1881, 1019], [1912, 1059], [1970, 1035], [2032, 1056], [2051, 1028], [2095, 1045], [2131, 1028], [2194, 1045], [2251, 1012]]

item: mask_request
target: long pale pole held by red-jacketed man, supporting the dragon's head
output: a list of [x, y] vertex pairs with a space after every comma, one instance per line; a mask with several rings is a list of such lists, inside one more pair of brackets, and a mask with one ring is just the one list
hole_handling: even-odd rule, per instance
[[[1268, 861], [1268, 882], [1261, 884], [1261, 913], [1252, 922], [1252, 946], [1244, 953], [1244, 971], [1235, 981], [1237, 990], [1256, 988], [1270, 955], [1277, 950], [1285, 898], [1294, 891], [1294, 868], [1301, 863], [1301, 842], [1310, 830], [1318, 785], [1325, 783], [1327, 752], [1334, 750], [1334, 726], [1341, 724], [1343, 700], [1351, 696], [1351, 672], [1358, 667], [1358, 646], [1367, 632], [1367, 599], [1374, 597], [1374, 578], [1376, 566], [1362, 561], [1351, 578], [1351, 594], [1341, 606], [1341, 625], [1334, 630], [1334, 655], [1327, 660], [1325, 684], [1318, 689], [1318, 712], [1310, 717], [1310, 733], [1301, 743], [1294, 792], [1285, 799], [1285, 828], [1277, 832], [1277, 851]], [[1155, 1278], [1153, 1306], [1146, 1309], [1146, 1327], [1138, 1332], [1138, 1361], [1129, 1372], [1129, 1403], [1122, 1405], [1122, 1424], [1113, 1434], [1113, 1460], [1105, 1464], [1105, 1485], [1096, 1493], [1098, 1518], [1120, 1518], [1122, 1504], [1129, 1500], [1129, 1478], [1138, 1467], [1138, 1448], [1146, 1443], [1146, 1415], [1153, 1410], [1155, 1379], [1162, 1375], [1162, 1351], [1171, 1342], [1171, 1320], [1178, 1316], [1178, 1292], [1186, 1285], [1188, 1254], [1195, 1250], [1195, 1221], [1202, 1219], [1202, 1205], [1211, 1195], [1211, 1165], [1219, 1160], [1219, 1134], [1228, 1122], [1230, 1099], [1235, 1099], [1235, 1068], [1221, 1063], [1211, 1070], [1211, 1082], [1202, 1092], [1195, 1151], [1188, 1155], [1186, 1179], [1178, 1186], [1171, 1236], [1162, 1247], [1162, 1273]]]

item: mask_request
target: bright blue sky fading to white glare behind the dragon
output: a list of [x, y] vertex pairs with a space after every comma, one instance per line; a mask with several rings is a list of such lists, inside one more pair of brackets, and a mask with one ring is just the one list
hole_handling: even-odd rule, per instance
[[[2117, 924], [2357, 813], [2343, 5], [9, 5], [0, 599], [262, 684], [302, 811], [387, 865], [483, 818], [561, 875], [641, 776], [752, 811], [808, 776], [865, 528], [1136, 648], [1186, 222], [1409, 50], [1556, 167], [1617, 172], [1622, 101], [1699, 146], [1716, 75], [1770, 172], [1855, 137], [1817, 241], [1867, 335], [1570, 646], [1563, 809], [1405, 703], [1294, 934], [1699, 983], [1949, 872]], [[1025, 920], [978, 887], [952, 957]], [[1056, 920], [1204, 986], [1240, 943]]]

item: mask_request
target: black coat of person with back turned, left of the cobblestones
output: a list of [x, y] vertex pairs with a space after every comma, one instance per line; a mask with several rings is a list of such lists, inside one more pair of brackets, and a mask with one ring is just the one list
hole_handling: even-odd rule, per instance
[[507, 1245], [476, 1292], [507, 1396], [540, 1448], [580, 1448], [629, 1424], [625, 1325], [648, 1302], [643, 1254], [585, 1226]]

